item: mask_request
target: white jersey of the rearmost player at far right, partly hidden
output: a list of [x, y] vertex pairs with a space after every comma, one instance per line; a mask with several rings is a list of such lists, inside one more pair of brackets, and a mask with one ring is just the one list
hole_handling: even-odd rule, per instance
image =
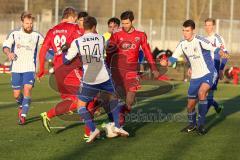
[[[215, 34], [212, 34], [211, 36], [207, 36], [206, 39], [209, 40], [213, 46], [222, 48], [223, 51], [227, 52], [227, 49], [225, 48], [226, 47], [225, 41], [224, 41], [223, 37], [221, 37], [220, 35], [215, 33]], [[211, 56], [212, 56], [212, 59], [214, 60], [215, 59], [214, 52], [211, 52]]]

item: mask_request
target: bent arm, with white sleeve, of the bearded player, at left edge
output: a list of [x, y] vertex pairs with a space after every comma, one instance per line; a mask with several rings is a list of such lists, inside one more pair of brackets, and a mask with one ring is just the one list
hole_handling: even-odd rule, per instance
[[9, 61], [15, 59], [15, 54], [11, 52], [12, 45], [14, 44], [14, 33], [10, 33], [7, 39], [3, 42], [3, 52], [7, 55]]

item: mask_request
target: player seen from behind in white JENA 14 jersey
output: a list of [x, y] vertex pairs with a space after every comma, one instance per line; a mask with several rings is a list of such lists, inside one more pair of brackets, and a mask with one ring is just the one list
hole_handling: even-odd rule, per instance
[[94, 17], [88, 16], [84, 18], [83, 26], [85, 34], [71, 43], [64, 57], [65, 63], [69, 63], [79, 54], [83, 62], [83, 84], [78, 96], [78, 113], [91, 129], [91, 134], [86, 142], [94, 141], [100, 134], [89, 111], [86, 109], [86, 104], [96, 97], [100, 91], [106, 92], [109, 96], [109, 106], [115, 123], [113, 131], [118, 135], [128, 136], [128, 132], [119, 125], [119, 112], [122, 105], [115, 96], [115, 89], [104, 62], [104, 38], [95, 33], [97, 21]]

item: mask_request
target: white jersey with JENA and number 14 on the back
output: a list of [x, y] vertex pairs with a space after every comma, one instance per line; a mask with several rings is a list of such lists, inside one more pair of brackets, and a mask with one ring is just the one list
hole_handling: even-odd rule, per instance
[[93, 85], [110, 79], [104, 62], [104, 38], [97, 33], [86, 33], [74, 40], [68, 53], [67, 60], [72, 60], [77, 53], [83, 62], [83, 82]]

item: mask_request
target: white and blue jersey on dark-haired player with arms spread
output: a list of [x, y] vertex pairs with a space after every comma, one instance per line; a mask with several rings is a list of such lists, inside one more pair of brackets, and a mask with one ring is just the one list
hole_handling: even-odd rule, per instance
[[182, 40], [172, 57], [178, 59], [184, 55], [192, 69], [191, 78], [196, 79], [216, 71], [210, 54], [216, 49], [207, 39], [196, 35], [191, 41]]

